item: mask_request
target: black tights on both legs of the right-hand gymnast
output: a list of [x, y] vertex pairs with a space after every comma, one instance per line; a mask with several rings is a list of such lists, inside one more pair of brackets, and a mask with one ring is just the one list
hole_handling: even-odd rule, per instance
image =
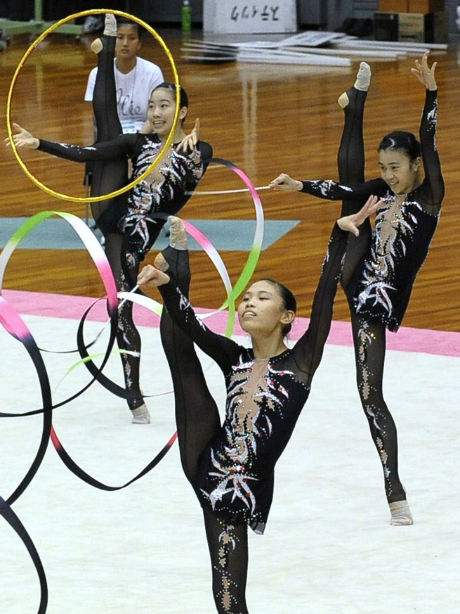
[[[343, 184], [364, 181], [364, 142], [362, 124], [367, 92], [355, 88], [348, 92], [350, 103], [344, 109], [345, 122], [337, 158], [339, 179]], [[341, 215], [357, 211], [362, 203], [343, 201]], [[355, 345], [357, 388], [364, 414], [369, 421], [372, 440], [379, 452], [383, 467], [386, 498], [389, 503], [405, 499], [405, 491], [397, 473], [397, 432], [393, 417], [383, 399], [383, 365], [386, 352], [386, 326], [357, 316], [348, 283], [369, 248], [371, 238], [369, 219], [360, 226], [360, 236], [350, 234], [341, 283], [350, 297], [350, 313]]]

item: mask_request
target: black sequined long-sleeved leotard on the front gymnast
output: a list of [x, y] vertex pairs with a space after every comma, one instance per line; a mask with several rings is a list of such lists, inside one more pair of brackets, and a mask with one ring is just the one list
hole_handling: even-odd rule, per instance
[[[199, 456], [192, 485], [202, 506], [211, 506], [216, 516], [230, 523], [244, 521], [258, 533], [263, 532], [270, 511], [275, 463], [291, 437], [320, 364], [347, 234], [334, 227], [308, 330], [292, 349], [272, 358], [256, 359], [252, 349], [211, 332], [172, 279], [159, 287], [173, 322], [216, 361], [225, 376], [225, 421]], [[166, 337], [167, 344], [173, 343], [171, 336], [173, 331]], [[168, 355], [167, 346], [165, 351]], [[170, 362], [173, 378], [180, 376], [174, 373], [174, 364]], [[176, 405], [182, 403], [183, 395], [198, 396], [193, 388], [182, 390], [176, 384], [175, 393]]]

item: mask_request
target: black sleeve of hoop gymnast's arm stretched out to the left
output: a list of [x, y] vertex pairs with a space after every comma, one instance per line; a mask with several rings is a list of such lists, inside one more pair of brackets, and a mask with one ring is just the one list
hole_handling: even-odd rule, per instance
[[116, 139], [112, 139], [112, 141], [78, 146], [40, 139], [38, 149], [39, 151], [44, 151], [65, 160], [72, 160], [73, 162], [103, 162], [132, 155], [136, 151], [138, 140], [138, 134], [121, 134]]

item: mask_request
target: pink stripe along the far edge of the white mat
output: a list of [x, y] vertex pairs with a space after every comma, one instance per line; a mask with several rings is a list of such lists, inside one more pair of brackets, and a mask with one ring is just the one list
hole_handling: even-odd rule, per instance
[[[84, 296], [68, 296], [63, 294], [44, 294], [37, 292], [23, 292], [20, 290], [4, 290], [5, 300], [20, 314], [29, 314], [54, 318], [80, 319], [84, 311], [95, 301], [94, 298]], [[210, 309], [197, 309], [198, 313], [208, 313]], [[134, 305], [134, 316], [139, 326], [158, 326], [159, 319], [155, 314]], [[90, 321], [105, 321], [107, 311], [105, 301], [100, 301], [91, 310], [88, 316]], [[227, 325], [227, 314], [221, 312], [206, 321], [213, 331], [224, 333]], [[290, 338], [296, 340], [303, 333], [308, 324], [307, 318], [297, 318]], [[235, 325], [235, 335], [245, 333]], [[332, 345], [353, 345], [350, 324], [348, 322], [332, 322], [328, 343]], [[442, 356], [460, 357], [460, 333], [447, 331], [431, 331], [424, 328], [403, 327], [397, 332], [388, 333], [387, 347], [389, 350], [403, 350], [406, 352], [425, 352], [426, 354], [440, 354]]]

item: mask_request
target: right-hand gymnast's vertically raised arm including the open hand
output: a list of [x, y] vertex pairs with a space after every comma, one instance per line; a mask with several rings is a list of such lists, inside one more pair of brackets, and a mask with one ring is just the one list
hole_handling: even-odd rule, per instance
[[415, 68], [411, 69], [422, 85], [426, 87], [425, 105], [421, 115], [420, 144], [425, 179], [422, 184], [422, 195], [430, 213], [438, 213], [445, 187], [442, 178], [441, 164], [436, 147], [436, 129], [438, 124], [438, 86], [435, 80], [436, 62], [428, 67], [429, 52], [423, 54], [421, 60], [415, 60]]

